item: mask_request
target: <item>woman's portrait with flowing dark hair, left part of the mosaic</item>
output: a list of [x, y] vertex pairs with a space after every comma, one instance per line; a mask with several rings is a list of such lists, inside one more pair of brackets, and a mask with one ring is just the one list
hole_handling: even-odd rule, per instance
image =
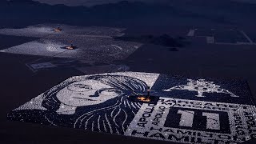
[[146, 82], [124, 75], [77, 76], [21, 106], [9, 118], [124, 134], [142, 106], [128, 97], [146, 92], [146, 87]]

